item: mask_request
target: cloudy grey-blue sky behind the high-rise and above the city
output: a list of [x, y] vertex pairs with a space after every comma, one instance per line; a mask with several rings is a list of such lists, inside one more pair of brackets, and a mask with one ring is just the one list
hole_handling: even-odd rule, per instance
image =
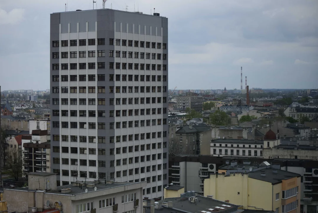
[[[92, 0], [0, 0], [2, 90], [50, 88], [50, 13]], [[318, 88], [317, 0], [107, 0], [169, 18], [169, 89]], [[102, 7], [102, 0], [97, 0]]]

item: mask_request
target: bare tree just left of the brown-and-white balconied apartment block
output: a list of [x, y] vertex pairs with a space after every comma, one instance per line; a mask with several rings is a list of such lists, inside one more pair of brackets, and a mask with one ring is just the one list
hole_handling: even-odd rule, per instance
[[8, 163], [8, 172], [9, 174], [18, 181], [20, 177], [22, 177], [22, 167], [23, 167], [23, 156], [22, 152], [17, 148], [13, 148], [10, 150], [7, 158]]

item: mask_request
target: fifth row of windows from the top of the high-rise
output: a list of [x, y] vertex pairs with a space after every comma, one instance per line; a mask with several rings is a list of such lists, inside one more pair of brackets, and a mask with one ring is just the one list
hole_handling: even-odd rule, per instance
[[[134, 90], [133, 90], [134, 88]], [[140, 88], [140, 90], [139, 90]], [[108, 93], [132, 93], [133, 91], [136, 93], [139, 92], [150, 92], [150, 86], [110, 86], [108, 89]], [[86, 93], [87, 87], [78, 87], [79, 93]], [[59, 93], [60, 87], [52, 87], [52, 93]], [[68, 87], [61, 87], [61, 93], [68, 93]], [[151, 92], [167, 92], [167, 86], [152, 86], [151, 87]], [[77, 87], [70, 87], [70, 93], [77, 93]], [[88, 87], [88, 93], [96, 93], [96, 87]], [[97, 87], [97, 93], [105, 93], [105, 87]], [[160, 97], [161, 98], [161, 97]], [[163, 97], [166, 98], [166, 97]], [[144, 98], [143, 98], [144, 99]]]

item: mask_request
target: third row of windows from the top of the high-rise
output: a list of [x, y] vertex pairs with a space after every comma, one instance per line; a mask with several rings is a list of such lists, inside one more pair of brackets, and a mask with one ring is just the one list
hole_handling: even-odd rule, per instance
[[[70, 66], [69, 66], [70, 65]], [[79, 65], [79, 66], [77, 66]], [[61, 64], [61, 70], [68, 69], [86, 69], [87, 63], [64, 63]], [[115, 65], [115, 66], [114, 66]], [[140, 66], [139, 66], [140, 65]], [[134, 69], [134, 70], [161, 70], [161, 64], [139, 64], [139, 63], [120, 63], [120, 62], [109, 62], [109, 69]], [[60, 64], [52, 64], [52, 70], [59, 70]], [[96, 63], [90, 62], [88, 63], [88, 69], [96, 69]], [[105, 62], [97, 62], [97, 69], [105, 69]], [[167, 70], [167, 65], [162, 64], [162, 70]]]

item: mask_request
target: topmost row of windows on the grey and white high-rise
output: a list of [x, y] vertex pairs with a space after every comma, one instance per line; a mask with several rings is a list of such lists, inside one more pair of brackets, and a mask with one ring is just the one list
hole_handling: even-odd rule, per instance
[[[109, 39], [109, 45], [114, 45], [114, 39]], [[149, 42], [149, 41], [136, 41], [136, 40], [127, 40], [126, 39], [115, 39], [116, 46], [135, 46], [135, 47], [146, 47], [146, 48], [156, 48], [156, 49], [167, 49], [166, 43], [159, 42]], [[61, 40], [61, 41], [52, 41], [52, 47], [59, 46], [86, 46], [86, 45], [96, 45], [96, 39], [73, 39], [73, 40]], [[97, 39], [97, 45], [105, 45], [105, 39]]]

